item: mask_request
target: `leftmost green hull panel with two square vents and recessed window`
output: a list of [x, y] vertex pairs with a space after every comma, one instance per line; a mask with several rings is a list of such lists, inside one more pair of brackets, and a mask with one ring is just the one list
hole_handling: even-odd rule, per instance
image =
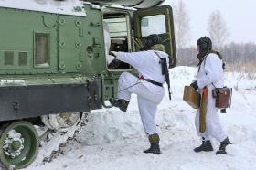
[[[57, 15], [0, 7], [0, 74], [56, 73], [56, 21]], [[36, 33], [46, 33], [49, 37], [47, 67], [34, 63]], [[13, 62], [7, 65], [5, 51], [14, 52]]]

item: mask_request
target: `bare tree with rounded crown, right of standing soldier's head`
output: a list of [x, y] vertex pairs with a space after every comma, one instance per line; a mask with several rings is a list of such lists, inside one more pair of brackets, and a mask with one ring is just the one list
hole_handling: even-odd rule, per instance
[[208, 33], [216, 48], [220, 48], [225, 44], [229, 37], [229, 31], [224, 18], [218, 11], [212, 12], [208, 19]]

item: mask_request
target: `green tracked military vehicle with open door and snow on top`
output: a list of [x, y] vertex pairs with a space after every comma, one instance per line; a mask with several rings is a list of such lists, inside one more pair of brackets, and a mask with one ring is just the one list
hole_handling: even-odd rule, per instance
[[[163, 2], [0, 1], [0, 160], [5, 167], [24, 168], [36, 159], [39, 145], [50, 141], [38, 127], [68, 135], [91, 110], [111, 107], [119, 75], [135, 71], [127, 64], [109, 69], [109, 51], [137, 51], [146, 36], [158, 34], [170, 67], [176, 66], [172, 8]], [[109, 27], [109, 49], [103, 23]]]

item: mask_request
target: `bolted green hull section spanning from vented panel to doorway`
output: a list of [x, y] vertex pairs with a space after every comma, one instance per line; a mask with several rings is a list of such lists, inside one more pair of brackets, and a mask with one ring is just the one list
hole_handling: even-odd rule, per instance
[[59, 71], [101, 73], [106, 69], [102, 14], [85, 5], [86, 17], [59, 16]]

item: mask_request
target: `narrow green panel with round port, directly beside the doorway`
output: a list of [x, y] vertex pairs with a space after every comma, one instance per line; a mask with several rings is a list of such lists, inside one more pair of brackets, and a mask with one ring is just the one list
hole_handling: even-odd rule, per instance
[[81, 70], [87, 73], [101, 73], [106, 70], [103, 25], [101, 9], [84, 6], [87, 17], [83, 27], [85, 54], [82, 56]]

